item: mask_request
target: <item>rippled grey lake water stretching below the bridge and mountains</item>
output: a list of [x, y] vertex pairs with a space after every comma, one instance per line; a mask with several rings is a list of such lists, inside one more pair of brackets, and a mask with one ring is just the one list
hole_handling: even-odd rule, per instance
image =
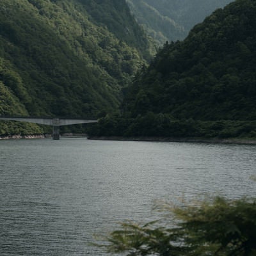
[[256, 196], [255, 166], [249, 145], [0, 141], [0, 255], [106, 255], [93, 234], [157, 218], [154, 200]]

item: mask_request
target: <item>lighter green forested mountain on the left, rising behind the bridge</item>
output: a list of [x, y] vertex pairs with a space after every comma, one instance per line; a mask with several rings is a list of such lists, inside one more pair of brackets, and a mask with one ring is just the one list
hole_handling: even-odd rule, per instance
[[125, 0], [1, 0], [0, 115], [111, 111], [148, 58]]

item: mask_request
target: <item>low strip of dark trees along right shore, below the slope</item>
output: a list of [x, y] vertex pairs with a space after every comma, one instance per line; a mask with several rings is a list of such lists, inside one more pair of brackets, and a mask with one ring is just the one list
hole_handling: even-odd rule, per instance
[[224, 140], [227, 138], [246, 138], [256, 137], [255, 121], [239, 120], [216, 120], [202, 121], [173, 118], [170, 114], [147, 112], [138, 115], [136, 118], [127, 116], [106, 116], [100, 118], [99, 124], [93, 125], [88, 130], [93, 136], [122, 136], [123, 138], [132, 137], [155, 137], [155, 138], [216, 138]]

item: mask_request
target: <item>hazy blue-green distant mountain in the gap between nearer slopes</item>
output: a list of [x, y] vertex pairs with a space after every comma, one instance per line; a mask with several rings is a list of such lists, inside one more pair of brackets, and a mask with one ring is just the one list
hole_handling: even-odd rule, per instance
[[127, 0], [131, 12], [159, 44], [184, 39], [191, 28], [232, 0]]

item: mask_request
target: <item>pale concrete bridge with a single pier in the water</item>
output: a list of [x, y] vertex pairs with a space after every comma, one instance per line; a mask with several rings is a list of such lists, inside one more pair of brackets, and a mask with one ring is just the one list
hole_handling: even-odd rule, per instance
[[0, 120], [5, 121], [18, 121], [29, 122], [34, 124], [44, 124], [52, 126], [52, 139], [60, 140], [60, 126], [73, 125], [73, 124], [89, 124], [97, 123], [95, 119], [83, 119], [83, 118], [35, 118], [27, 116], [0, 116]]

